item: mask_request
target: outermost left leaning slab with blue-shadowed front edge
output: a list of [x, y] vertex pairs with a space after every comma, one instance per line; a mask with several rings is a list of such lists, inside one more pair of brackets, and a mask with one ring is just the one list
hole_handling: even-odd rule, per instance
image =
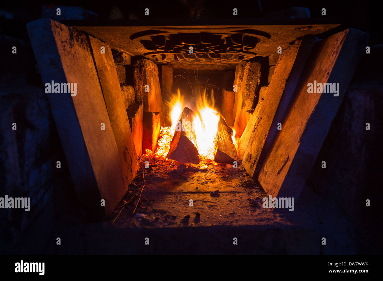
[[77, 83], [75, 96], [47, 98], [81, 207], [93, 218], [110, 214], [126, 182], [88, 38], [50, 19], [30, 22], [27, 30], [43, 84]]

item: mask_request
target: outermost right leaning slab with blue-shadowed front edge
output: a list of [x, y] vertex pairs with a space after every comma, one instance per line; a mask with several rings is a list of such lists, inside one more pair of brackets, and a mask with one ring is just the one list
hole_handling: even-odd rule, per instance
[[[306, 183], [361, 56], [368, 34], [347, 29], [318, 42], [258, 180], [273, 197], [295, 197]], [[339, 83], [338, 93], [308, 93], [308, 83]]]

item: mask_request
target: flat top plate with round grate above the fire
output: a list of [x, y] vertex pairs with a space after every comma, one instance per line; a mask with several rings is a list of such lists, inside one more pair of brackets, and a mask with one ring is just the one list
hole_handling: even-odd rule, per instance
[[[255, 55], [267, 57], [276, 52], [278, 46], [286, 49], [296, 38], [326, 32], [338, 26], [339, 22], [340, 20], [327, 17], [320, 19], [204, 19], [203, 22], [198, 19], [188, 22], [187, 25], [182, 20], [159, 22], [154, 19], [141, 19], [134, 22], [119, 21], [118, 23], [114, 21], [104, 23], [100, 20], [65, 21], [70, 26], [107, 42], [113, 49], [122, 50], [131, 55], [145, 56], [154, 62], [169, 63], [174, 68], [201, 69], [204, 67], [204, 69], [210, 70], [234, 68], [242, 57], [244, 60], [249, 60]], [[237, 41], [236, 44], [239, 44], [239, 48], [222, 50], [223, 53], [219, 53], [222, 56], [215, 56], [213, 59], [205, 56], [188, 56], [189, 54], [186, 54], [185, 57], [172, 49], [168, 50], [178, 46], [188, 50], [186, 44], [177, 44], [170, 38], [190, 33], [191, 30], [195, 34], [200, 32], [201, 34], [206, 34], [206, 32], [218, 34], [218, 36], [222, 36], [223, 40], [233, 37], [234, 41], [237, 40], [237, 36], [233, 36], [234, 34], [243, 34], [245, 41], [254, 40], [252, 42], [256, 42], [256, 44], [246, 43], [245, 46], [241, 41]], [[170, 39], [169, 42], [173, 41], [173, 45], [164, 46], [162, 42], [164, 39]], [[233, 40], [228, 39], [226, 45], [231, 45]], [[198, 45], [199, 42], [195, 42], [195, 44]], [[211, 44], [206, 40], [203, 42]], [[214, 44], [211, 45], [212, 48], [216, 48]], [[198, 50], [195, 51], [195, 53], [197, 52]], [[235, 52], [235, 56], [232, 56], [233, 52]], [[189, 60], [188, 57], [193, 59]]]

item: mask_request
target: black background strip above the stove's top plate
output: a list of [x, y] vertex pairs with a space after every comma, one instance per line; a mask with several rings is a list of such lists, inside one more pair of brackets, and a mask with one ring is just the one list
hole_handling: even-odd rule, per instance
[[[14, 13], [16, 19], [12, 26], [6, 24], [0, 16], [0, 33], [28, 40], [25, 24], [41, 15], [43, 5], [80, 6], [98, 14], [98, 19], [109, 19], [113, 5], [118, 6], [125, 19], [129, 13], [138, 19], [229, 19], [262, 18], [267, 13], [291, 7], [306, 7], [311, 18], [324, 18], [322, 8], [326, 8], [327, 18], [340, 18], [343, 28], [357, 28], [371, 34], [370, 45], [382, 44], [381, 36], [381, 1], [222, 1], [222, 0], [177, 0], [177, 1], [33, 1], [20, 3], [9, 1], [2, 3], [0, 9]], [[262, 7], [262, 11], [260, 9]], [[144, 16], [144, 9], [149, 8], [150, 15]], [[233, 16], [233, 8], [238, 9], [238, 16]]]

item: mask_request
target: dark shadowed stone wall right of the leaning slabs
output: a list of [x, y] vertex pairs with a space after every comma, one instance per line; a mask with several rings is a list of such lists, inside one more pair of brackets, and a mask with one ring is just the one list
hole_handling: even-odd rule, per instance
[[[381, 189], [381, 155], [383, 138], [383, 83], [381, 51], [372, 47], [347, 89], [339, 111], [331, 124], [307, 184], [327, 200], [334, 200], [340, 211], [352, 221], [361, 253], [371, 253], [370, 240], [378, 241], [376, 217], [383, 200]], [[366, 130], [370, 123], [370, 130]], [[326, 168], [322, 168], [322, 161]], [[370, 207], [366, 200], [370, 200]], [[370, 248], [371, 247], [371, 248]], [[370, 248], [370, 249], [369, 249]]]

